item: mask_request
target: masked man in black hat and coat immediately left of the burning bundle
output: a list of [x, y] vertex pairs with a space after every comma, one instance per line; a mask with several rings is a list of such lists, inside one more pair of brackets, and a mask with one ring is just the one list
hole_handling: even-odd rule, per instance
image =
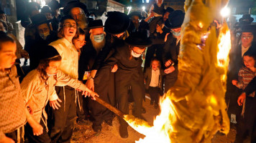
[[176, 10], [169, 15], [165, 26], [171, 29], [172, 33], [167, 34], [163, 48], [163, 63], [165, 64], [165, 93], [173, 87], [178, 78], [178, 54], [180, 50], [180, 27], [183, 24], [185, 14]]

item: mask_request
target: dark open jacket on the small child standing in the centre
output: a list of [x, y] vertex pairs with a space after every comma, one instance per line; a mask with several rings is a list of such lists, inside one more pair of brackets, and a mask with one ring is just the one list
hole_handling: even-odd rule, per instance
[[[165, 72], [163, 69], [160, 69], [160, 75], [159, 75], [159, 82], [158, 82], [158, 88], [162, 89], [163, 88], [163, 75], [165, 75]], [[150, 88], [150, 82], [151, 82], [151, 77], [152, 77], [152, 68], [147, 68], [146, 72], [144, 74], [144, 79], [145, 79], [145, 87], [146, 89]]]

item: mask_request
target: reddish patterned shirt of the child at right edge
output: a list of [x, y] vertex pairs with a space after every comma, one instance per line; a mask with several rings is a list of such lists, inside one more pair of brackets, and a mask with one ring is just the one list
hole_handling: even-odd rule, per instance
[[[247, 67], [243, 66], [238, 72], [238, 88], [245, 89], [247, 85], [256, 77], [256, 72], [251, 71]], [[255, 92], [248, 95], [249, 97], [255, 97]]]

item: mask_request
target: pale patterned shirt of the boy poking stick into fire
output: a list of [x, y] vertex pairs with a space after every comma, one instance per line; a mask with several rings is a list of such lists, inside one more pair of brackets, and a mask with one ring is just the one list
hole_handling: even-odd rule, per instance
[[[75, 89], [81, 89], [82, 91], [86, 90], [86, 85], [78, 81], [78, 79], [73, 79], [64, 74], [62, 71], [58, 71], [56, 76], [57, 81], [61, 84], [68, 85]], [[56, 80], [54, 76], [50, 76], [47, 82], [44, 82], [37, 69], [30, 71], [22, 81], [21, 87], [24, 101], [29, 104], [29, 108], [33, 111], [32, 117], [38, 123], [40, 123], [42, 114], [45, 119], [47, 119], [45, 106], [50, 97], [56, 94], [55, 83]], [[27, 114], [27, 117], [30, 116], [30, 114]]]

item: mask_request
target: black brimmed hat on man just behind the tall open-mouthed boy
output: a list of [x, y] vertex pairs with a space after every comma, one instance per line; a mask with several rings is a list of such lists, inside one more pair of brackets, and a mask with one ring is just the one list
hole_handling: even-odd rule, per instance
[[83, 9], [85, 14], [88, 14], [86, 4], [81, 3], [80, 1], [70, 1], [63, 9], [63, 14], [68, 15], [68, 12], [73, 9], [74, 7], [79, 7]]

